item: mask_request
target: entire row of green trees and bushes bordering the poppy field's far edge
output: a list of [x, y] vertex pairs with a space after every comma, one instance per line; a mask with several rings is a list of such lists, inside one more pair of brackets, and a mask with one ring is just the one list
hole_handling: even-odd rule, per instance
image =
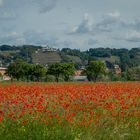
[[[59, 82], [73, 81], [75, 74], [74, 63], [53, 63], [48, 67], [31, 64], [23, 60], [12, 62], [6, 71], [11, 80], [27, 82]], [[81, 75], [87, 76], [88, 81], [140, 81], [140, 67], [129, 68], [117, 74], [115, 69], [108, 69], [103, 61], [90, 61]]]

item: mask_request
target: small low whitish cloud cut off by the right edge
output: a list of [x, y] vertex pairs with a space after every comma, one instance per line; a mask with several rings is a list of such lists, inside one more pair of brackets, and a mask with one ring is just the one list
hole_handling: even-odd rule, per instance
[[140, 42], [140, 32], [133, 31], [132, 33], [128, 33], [125, 40], [129, 42]]

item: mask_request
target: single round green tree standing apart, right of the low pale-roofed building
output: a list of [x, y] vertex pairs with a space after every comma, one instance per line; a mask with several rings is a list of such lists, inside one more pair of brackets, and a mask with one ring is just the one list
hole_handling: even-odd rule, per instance
[[91, 61], [86, 69], [85, 74], [89, 81], [97, 81], [97, 78], [100, 75], [105, 75], [106, 73], [106, 66], [105, 63], [102, 61]]

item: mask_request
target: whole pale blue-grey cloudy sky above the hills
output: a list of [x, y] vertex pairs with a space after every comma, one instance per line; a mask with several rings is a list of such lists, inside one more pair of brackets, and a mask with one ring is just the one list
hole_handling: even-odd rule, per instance
[[0, 0], [0, 45], [140, 47], [140, 0]]

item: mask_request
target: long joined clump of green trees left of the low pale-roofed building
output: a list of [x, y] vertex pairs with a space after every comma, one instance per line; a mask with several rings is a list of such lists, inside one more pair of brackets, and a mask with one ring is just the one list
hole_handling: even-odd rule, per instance
[[74, 74], [73, 63], [54, 63], [48, 68], [39, 64], [30, 64], [23, 60], [16, 60], [12, 62], [6, 74], [11, 77], [13, 81], [70, 81], [70, 76]]

